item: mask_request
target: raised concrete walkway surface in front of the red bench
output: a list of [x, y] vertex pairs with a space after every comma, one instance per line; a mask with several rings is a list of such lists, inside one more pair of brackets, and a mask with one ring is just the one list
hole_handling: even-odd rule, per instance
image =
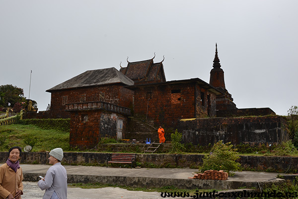
[[[27, 165], [21, 164], [23, 173], [46, 173], [51, 165]], [[69, 175], [86, 176], [127, 176], [160, 179], [188, 179], [193, 177], [197, 169], [166, 169], [166, 168], [112, 168], [112, 167], [86, 167], [64, 165]], [[226, 181], [256, 182], [274, 179], [278, 173], [269, 172], [236, 172], [234, 176], [228, 177]]]

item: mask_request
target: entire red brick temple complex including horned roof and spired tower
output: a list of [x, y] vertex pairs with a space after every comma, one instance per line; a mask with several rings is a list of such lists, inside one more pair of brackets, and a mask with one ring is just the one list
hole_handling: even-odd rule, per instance
[[[127, 67], [120, 65], [120, 71], [115, 68], [86, 71], [47, 90], [51, 93], [51, 116], [71, 118], [71, 146], [92, 148], [101, 137], [124, 139], [125, 133], [128, 133], [129, 116], [151, 121], [155, 127], [162, 125], [172, 129], [183, 126], [181, 119], [196, 119], [188, 123], [194, 125], [192, 128], [196, 132], [202, 131], [204, 136], [208, 136], [209, 127], [200, 130], [197, 119], [215, 118], [219, 111], [221, 116], [251, 115], [251, 112], [255, 114], [260, 111], [275, 114], [270, 108], [237, 109], [225, 89], [217, 46], [210, 84], [199, 78], [166, 82], [163, 60], [154, 63], [153, 59], [138, 62], [127, 60]], [[217, 125], [212, 121], [217, 120], [210, 119], [212, 126]], [[217, 131], [216, 135], [224, 135]], [[227, 131], [227, 135], [233, 133], [238, 136], [238, 132]], [[184, 132], [184, 135], [187, 133], [198, 134]], [[196, 139], [202, 140], [200, 137]], [[246, 138], [244, 140], [247, 141]]]

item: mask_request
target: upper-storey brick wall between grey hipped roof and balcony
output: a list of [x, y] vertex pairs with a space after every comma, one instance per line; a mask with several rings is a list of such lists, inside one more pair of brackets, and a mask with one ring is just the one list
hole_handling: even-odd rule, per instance
[[70, 113], [65, 111], [65, 103], [84, 101], [104, 101], [124, 107], [132, 107], [133, 93], [133, 91], [123, 88], [121, 84], [53, 91], [51, 115], [55, 118], [69, 118]]

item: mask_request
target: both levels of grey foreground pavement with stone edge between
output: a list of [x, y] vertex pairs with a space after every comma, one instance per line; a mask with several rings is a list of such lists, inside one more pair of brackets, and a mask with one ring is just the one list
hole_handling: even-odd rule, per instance
[[[0, 164], [1, 165], [1, 164]], [[50, 165], [27, 165], [21, 164], [24, 173], [24, 195], [22, 199], [40, 199], [44, 191], [37, 187], [39, 175], [45, 175]], [[96, 181], [104, 184], [128, 183], [131, 187], [163, 187], [163, 186], [193, 186], [195, 189], [201, 186], [210, 186], [211, 189], [228, 190], [233, 187], [256, 187], [262, 183], [283, 181], [276, 179], [277, 173], [267, 172], [236, 172], [233, 177], [226, 181], [195, 180], [193, 177], [197, 169], [154, 169], [154, 168], [106, 168], [65, 166], [69, 181]], [[136, 180], [137, 179], [137, 180]], [[28, 182], [30, 181], [30, 182]], [[72, 182], [71, 182], [72, 183]], [[243, 184], [244, 183], [244, 184]], [[250, 183], [250, 184], [245, 184]], [[209, 185], [208, 185], [209, 184]], [[242, 186], [244, 185], [244, 186]], [[220, 189], [219, 187], [223, 187]], [[206, 189], [210, 189], [206, 188]], [[185, 188], [182, 188], [185, 189]], [[171, 192], [170, 190], [168, 192]], [[161, 193], [157, 192], [134, 192], [120, 188], [80, 189], [69, 188], [68, 199], [161, 199]]]

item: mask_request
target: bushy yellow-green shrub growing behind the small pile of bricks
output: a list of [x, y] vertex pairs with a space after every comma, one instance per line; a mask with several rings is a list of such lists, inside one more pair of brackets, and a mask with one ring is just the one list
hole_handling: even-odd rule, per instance
[[241, 170], [240, 163], [236, 162], [239, 159], [237, 154], [237, 149], [233, 149], [230, 142], [224, 144], [223, 141], [219, 141], [212, 147], [210, 155], [205, 155], [203, 158], [201, 171], [224, 170], [232, 176], [233, 171]]

